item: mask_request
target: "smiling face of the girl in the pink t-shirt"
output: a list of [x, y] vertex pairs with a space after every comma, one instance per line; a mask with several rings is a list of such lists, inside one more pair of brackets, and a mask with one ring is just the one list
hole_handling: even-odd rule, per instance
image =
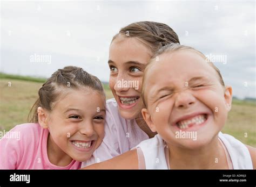
[[90, 88], [63, 95], [48, 113], [45, 125], [40, 124], [49, 129], [51, 146], [74, 160], [85, 161], [104, 138], [105, 97]]

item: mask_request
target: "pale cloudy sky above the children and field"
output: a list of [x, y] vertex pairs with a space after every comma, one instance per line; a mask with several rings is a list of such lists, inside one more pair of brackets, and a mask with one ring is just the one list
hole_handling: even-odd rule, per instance
[[144, 20], [215, 58], [235, 96], [256, 97], [255, 1], [1, 1], [0, 71], [49, 77], [73, 65], [108, 81], [113, 35]]

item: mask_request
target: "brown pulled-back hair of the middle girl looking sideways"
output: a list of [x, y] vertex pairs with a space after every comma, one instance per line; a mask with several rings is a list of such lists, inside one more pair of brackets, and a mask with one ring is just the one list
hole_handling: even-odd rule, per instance
[[127, 25], [121, 28], [118, 34], [114, 35], [112, 41], [119, 35], [136, 37], [140, 42], [149, 47], [152, 53], [156, 53], [159, 48], [167, 44], [179, 43], [179, 37], [171, 27], [153, 21], [139, 21]]

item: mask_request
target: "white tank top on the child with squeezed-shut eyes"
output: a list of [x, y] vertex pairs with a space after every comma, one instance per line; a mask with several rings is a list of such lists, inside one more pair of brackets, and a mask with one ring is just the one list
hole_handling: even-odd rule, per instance
[[[233, 169], [253, 169], [250, 152], [244, 143], [221, 132], [219, 132], [219, 139], [230, 155]], [[140, 142], [136, 146], [143, 153], [145, 169], [168, 169], [165, 146], [166, 143], [159, 134], [155, 135], [154, 138]]]

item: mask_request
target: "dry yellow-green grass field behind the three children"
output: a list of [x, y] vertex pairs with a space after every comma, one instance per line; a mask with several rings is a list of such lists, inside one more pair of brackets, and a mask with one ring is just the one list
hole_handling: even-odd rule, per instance
[[[44, 81], [43, 78], [0, 74], [0, 131], [9, 131], [15, 125], [28, 122], [28, 113]], [[104, 84], [104, 89], [107, 99], [112, 98], [108, 85]], [[222, 132], [256, 147], [255, 102], [233, 100], [232, 110]]]

